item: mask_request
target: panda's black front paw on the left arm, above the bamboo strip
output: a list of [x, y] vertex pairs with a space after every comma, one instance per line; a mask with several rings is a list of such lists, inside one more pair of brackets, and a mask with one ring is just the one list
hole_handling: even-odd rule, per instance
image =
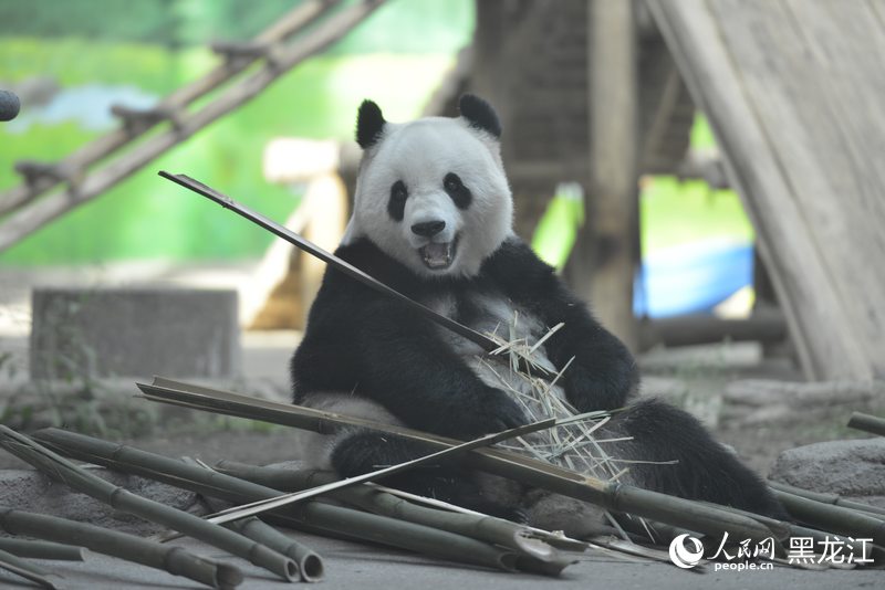
[[525, 412], [507, 393], [483, 387], [465, 400], [458, 415], [444, 428], [458, 439], [476, 439], [528, 423]]

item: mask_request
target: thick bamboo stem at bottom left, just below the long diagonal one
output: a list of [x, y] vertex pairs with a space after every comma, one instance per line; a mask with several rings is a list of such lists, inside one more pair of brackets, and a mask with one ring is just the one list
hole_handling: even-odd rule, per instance
[[242, 572], [233, 566], [196, 556], [180, 547], [160, 545], [86, 523], [0, 506], [0, 527], [13, 535], [80, 545], [98, 554], [160, 569], [214, 588], [233, 588], [242, 582]]

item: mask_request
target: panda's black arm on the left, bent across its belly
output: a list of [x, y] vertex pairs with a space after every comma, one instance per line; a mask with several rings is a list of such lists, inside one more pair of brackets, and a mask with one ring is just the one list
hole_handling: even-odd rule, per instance
[[329, 278], [292, 360], [296, 400], [306, 391], [353, 391], [408, 426], [459, 439], [525, 423], [426, 318], [350, 278]]

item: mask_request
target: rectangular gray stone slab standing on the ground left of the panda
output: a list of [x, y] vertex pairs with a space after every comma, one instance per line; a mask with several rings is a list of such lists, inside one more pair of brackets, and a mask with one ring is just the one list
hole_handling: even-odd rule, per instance
[[34, 289], [34, 379], [228, 378], [240, 370], [236, 291]]

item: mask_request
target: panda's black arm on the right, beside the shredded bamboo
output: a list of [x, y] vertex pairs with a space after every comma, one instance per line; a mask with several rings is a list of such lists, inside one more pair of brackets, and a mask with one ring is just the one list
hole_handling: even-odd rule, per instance
[[579, 411], [621, 408], [638, 386], [636, 362], [627, 348], [591, 315], [553, 268], [519, 239], [509, 239], [487, 261], [486, 271], [513, 302], [546, 326], [564, 326], [545, 344], [550, 360], [562, 368], [569, 401]]

